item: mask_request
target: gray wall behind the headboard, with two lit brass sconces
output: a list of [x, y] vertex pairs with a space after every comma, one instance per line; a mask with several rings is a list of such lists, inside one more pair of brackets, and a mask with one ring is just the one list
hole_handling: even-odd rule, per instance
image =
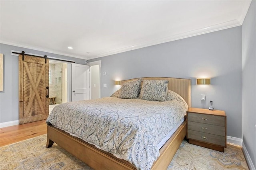
[[[101, 60], [101, 97], [116, 89], [114, 80], [146, 76], [191, 78], [192, 107], [225, 110], [227, 135], [241, 138], [242, 27], [162, 43], [142, 49], [92, 59]], [[106, 71], [106, 75], [103, 72]], [[196, 85], [210, 77], [211, 85]], [[103, 87], [106, 83], [107, 87]], [[200, 95], [206, 94], [206, 101]]]

